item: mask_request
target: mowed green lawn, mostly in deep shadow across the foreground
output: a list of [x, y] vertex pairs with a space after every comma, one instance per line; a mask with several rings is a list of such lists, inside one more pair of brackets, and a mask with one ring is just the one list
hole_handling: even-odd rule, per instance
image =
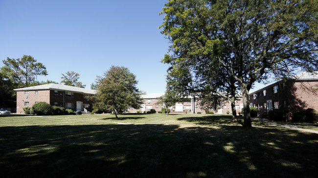
[[317, 177], [318, 134], [229, 115], [118, 116], [0, 116], [0, 177]]

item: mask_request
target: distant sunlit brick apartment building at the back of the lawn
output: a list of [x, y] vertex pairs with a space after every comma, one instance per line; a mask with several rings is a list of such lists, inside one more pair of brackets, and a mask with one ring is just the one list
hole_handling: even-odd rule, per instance
[[[161, 111], [162, 108], [165, 108], [163, 104], [157, 104], [158, 99], [160, 96], [164, 95], [163, 93], [159, 94], [146, 94], [144, 95], [143, 98], [143, 104], [141, 105], [141, 108], [139, 109], [134, 109], [134, 108], [129, 108], [128, 112], [130, 113], [136, 113], [137, 111], [143, 113], [150, 111], [151, 109], [155, 109], [157, 112]], [[236, 113], [240, 112], [241, 109], [243, 108], [243, 100], [239, 99], [235, 101], [235, 108], [236, 108]], [[201, 105], [200, 99], [189, 97], [185, 99], [184, 102], [182, 103], [176, 103], [175, 106], [170, 107], [170, 113], [180, 113], [180, 114], [190, 114], [190, 113], [205, 113], [205, 108], [204, 106]], [[229, 100], [225, 100], [218, 111], [214, 111], [213, 109], [209, 109], [209, 111], [213, 111], [215, 114], [227, 114], [227, 111], [229, 113], [232, 113], [231, 110], [231, 102]]]

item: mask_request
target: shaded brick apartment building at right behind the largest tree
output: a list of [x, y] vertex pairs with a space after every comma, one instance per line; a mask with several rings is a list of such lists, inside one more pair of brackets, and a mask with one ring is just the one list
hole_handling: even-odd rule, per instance
[[307, 72], [295, 75], [295, 79], [280, 80], [260, 90], [250, 93], [250, 107], [260, 113], [279, 109], [287, 111], [318, 110], [318, 73]]

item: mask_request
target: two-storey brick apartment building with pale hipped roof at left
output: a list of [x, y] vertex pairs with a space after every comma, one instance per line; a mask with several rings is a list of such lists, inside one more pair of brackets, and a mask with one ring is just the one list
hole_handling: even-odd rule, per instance
[[37, 102], [84, 111], [91, 107], [87, 96], [94, 95], [95, 90], [49, 83], [38, 86], [15, 89], [17, 91], [17, 113], [23, 114], [24, 107], [32, 107]]

